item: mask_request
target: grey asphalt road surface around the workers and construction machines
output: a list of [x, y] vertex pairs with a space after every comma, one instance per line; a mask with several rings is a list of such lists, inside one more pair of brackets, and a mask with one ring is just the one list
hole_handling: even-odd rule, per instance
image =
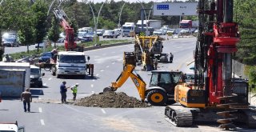
[[[164, 52], [174, 54], [174, 63], [159, 63], [161, 70], [188, 70], [187, 64], [193, 62], [195, 38], [174, 38], [164, 43]], [[43, 88], [31, 88], [33, 100], [31, 113], [24, 113], [22, 102], [17, 99], [6, 99], [0, 103], [0, 122], [14, 122], [26, 126], [26, 132], [169, 132], [169, 131], [219, 131], [215, 126], [175, 127], [164, 119], [165, 106], [149, 108], [98, 108], [73, 106], [60, 103], [59, 86], [66, 81], [66, 86], [79, 83], [78, 98], [98, 94], [103, 88], [110, 86], [122, 71], [124, 51], [133, 51], [134, 45], [116, 46], [106, 49], [86, 51], [90, 55], [90, 63], [94, 64], [94, 78], [56, 78], [49, 71], [43, 71]], [[136, 72], [148, 84], [150, 72], [136, 67]], [[138, 91], [132, 81], [128, 80], [117, 92], [125, 92], [129, 96], [139, 98]], [[68, 90], [67, 98], [71, 99]], [[54, 102], [54, 103], [42, 103]], [[72, 101], [70, 101], [72, 102]], [[244, 130], [244, 129], [238, 129]], [[253, 130], [245, 130], [253, 131]]]

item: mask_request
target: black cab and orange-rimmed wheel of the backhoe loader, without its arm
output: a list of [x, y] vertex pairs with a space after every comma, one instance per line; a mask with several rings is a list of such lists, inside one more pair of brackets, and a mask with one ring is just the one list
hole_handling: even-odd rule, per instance
[[150, 104], [160, 106], [174, 99], [174, 87], [182, 76], [182, 72], [153, 70], [150, 86], [146, 89], [146, 99]]

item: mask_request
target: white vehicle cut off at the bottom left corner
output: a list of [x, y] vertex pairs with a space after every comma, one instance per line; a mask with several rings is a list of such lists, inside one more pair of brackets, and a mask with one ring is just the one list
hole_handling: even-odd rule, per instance
[[0, 132], [25, 132], [25, 127], [18, 126], [18, 122], [0, 122]]

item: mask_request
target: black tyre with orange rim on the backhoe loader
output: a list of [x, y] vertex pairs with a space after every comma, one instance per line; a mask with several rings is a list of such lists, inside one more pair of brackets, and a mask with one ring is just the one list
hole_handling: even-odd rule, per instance
[[154, 106], [162, 106], [167, 101], [167, 95], [162, 90], [151, 90], [146, 97], [147, 101]]

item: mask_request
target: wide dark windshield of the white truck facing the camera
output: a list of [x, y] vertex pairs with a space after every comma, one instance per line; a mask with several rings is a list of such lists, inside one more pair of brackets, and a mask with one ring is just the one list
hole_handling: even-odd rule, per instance
[[84, 55], [59, 55], [60, 62], [85, 63], [86, 57]]

